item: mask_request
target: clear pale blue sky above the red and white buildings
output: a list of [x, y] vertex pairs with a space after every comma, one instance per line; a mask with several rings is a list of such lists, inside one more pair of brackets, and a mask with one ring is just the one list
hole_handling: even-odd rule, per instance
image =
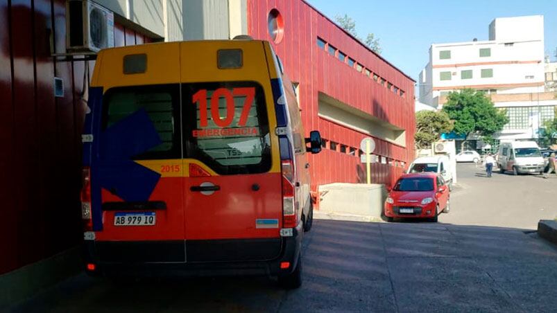
[[555, 0], [307, 0], [327, 17], [352, 17], [359, 37], [379, 37], [382, 56], [418, 80], [431, 44], [488, 40], [495, 17], [544, 15], [545, 53], [556, 61]]

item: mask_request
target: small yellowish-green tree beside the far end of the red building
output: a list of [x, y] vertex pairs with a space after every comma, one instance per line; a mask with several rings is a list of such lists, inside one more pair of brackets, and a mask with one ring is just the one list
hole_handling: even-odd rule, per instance
[[427, 149], [442, 133], [452, 132], [453, 123], [443, 111], [418, 111], [415, 114], [415, 146]]

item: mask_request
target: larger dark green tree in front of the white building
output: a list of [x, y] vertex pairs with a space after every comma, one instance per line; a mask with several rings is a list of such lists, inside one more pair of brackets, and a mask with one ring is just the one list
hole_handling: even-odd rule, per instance
[[492, 142], [492, 136], [508, 123], [506, 111], [494, 107], [485, 93], [474, 89], [449, 93], [443, 111], [454, 120], [456, 134], [477, 134], [486, 142]]

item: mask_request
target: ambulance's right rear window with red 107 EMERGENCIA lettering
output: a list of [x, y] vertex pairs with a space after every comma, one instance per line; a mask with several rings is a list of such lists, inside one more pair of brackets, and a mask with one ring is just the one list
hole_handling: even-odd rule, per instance
[[182, 85], [185, 154], [221, 175], [271, 168], [265, 97], [256, 82]]

